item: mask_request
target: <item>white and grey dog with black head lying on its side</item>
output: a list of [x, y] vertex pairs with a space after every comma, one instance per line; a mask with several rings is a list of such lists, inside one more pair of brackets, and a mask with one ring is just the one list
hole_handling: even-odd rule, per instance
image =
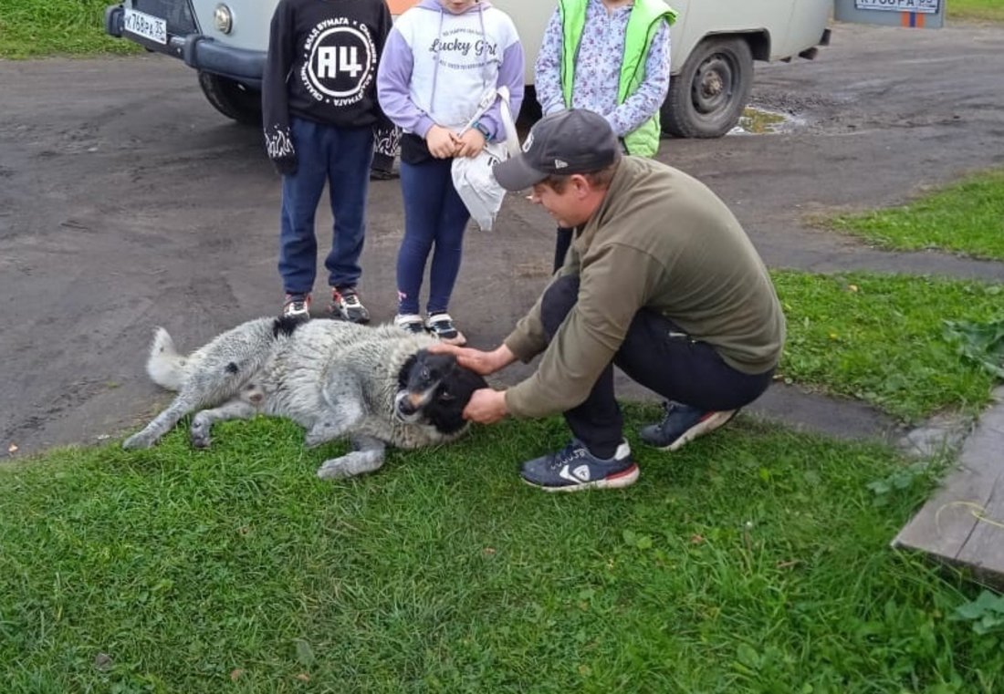
[[308, 446], [349, 437], [353, 450], [325, 461], [318, 476], [370, 472], [386, 444], [416, 448], [467, 428], [464, 406], [487, 383], [452, 355], [429, 353], [435, 343], [390, 325], [259, 318], [183, 356], [158, 328], [147, 372], [178, 397], [122, 446], [147, 448], [196, 412], [190, 437], [205, 447], [213, 422], [260, 412], [302, 425]]

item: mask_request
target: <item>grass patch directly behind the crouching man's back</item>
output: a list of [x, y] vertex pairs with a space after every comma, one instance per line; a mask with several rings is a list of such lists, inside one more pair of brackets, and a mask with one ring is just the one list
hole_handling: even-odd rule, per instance
[[788, 320], [785, 380], [859, 398], [910, 422], [975, 414], [996, 376], [960, 356], [945, 321], [1004, 318], [1004, 286], [866, 273], [772, 273]]

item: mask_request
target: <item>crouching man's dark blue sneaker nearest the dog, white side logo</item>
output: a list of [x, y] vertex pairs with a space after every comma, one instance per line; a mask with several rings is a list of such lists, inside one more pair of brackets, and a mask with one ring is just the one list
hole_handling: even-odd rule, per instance
[[617, 446], [613, 457], [604, 460], [573, 438], [556, 453], [524, 462], [520, 474], [527, 484], [544, 491], [578, 491], [590, 487], [616, 489], [634, 484], [639, 469], [628, 441]]

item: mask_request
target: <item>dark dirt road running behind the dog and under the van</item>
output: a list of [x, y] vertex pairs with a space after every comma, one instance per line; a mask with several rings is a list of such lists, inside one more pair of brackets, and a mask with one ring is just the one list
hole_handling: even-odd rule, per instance
[[[1002, 264], [881, 253], [801, 223], [1004, 164], [1002, 45], [1002, 28], [838, 24], [817, 60], [758, 66], [755, 102], [800, 125], [666, 140], [661, 158], [730, 204], [771, 266], [1004, 280]], [[164, 402], [143, 370], [155, 325], [194, 347], [278, 309], [279, 180], [258, 132], [163, 56], [0, 61], [0, 455], [20, 456], [118, 435]], [[361, 291], [385, 320], [401, 200], [396, 182], [371, 191]], [[552, 228], [512, 198], [495, 232], [469, 233], [451, 310], [473, 344], [494, 345], [535, 298]], [[838, 433], [888, 424], [791, 389], [758, 409]]]

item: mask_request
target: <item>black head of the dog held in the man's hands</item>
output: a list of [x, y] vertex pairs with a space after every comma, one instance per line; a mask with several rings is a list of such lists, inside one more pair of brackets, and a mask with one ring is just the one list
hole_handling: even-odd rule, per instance
[[407, 422], [431, 424], [441, 433], [459, 431], [471, 394], [487, 388], [485, 379], [457, 363], [452, 354], [420, 350], [398, 373], [395, 415]]

